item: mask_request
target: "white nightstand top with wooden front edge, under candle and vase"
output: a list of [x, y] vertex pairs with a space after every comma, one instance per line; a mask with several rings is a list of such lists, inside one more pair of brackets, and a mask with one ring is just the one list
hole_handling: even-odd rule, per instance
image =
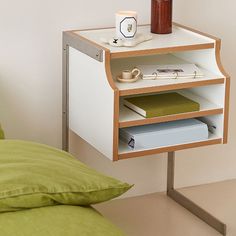
[[102, 43], [101, 38], [111, 38], [115, 36], [115, 28], [74, 31], [74, 33], [110, 50], [111, 58], [123, 58], [145, 54], [150, 55], [162, 52], [167, 53], [208, 49], [214, 48], [215, 46], [214, 38], [191, 31], [177, 24], [173, 25], [172, 34], [164, 35], [150, 33], [150, 25], [139, 26], [139, 34], [152, 34], [153, 39], [148, 42], [141, 43], [136, 47], [112, 47], [108, 44]]

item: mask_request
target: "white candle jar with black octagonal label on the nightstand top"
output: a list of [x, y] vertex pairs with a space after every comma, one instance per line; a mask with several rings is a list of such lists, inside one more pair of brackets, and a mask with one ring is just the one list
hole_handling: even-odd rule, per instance
[[116, 36], [119, 39], [133, 39], [137, 32], [137, 12], [118, 11], [116, 13]]

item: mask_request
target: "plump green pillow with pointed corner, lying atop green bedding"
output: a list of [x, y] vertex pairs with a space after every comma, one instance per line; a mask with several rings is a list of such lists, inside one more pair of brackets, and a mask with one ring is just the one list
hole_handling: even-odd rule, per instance
[[0, 212], [96, 204], [130, 188], [64, 151], [32, 142], [0, 140]]

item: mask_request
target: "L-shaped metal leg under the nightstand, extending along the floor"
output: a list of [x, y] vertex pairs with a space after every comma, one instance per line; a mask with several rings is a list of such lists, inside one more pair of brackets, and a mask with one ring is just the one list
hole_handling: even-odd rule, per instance
[[181, 206], [189, 210], [191, 213], [205, 221], [208, 225], [216, 229], [222, 235], [226, 235], [226, 224], [212, 216], [203, 208], [195, 204], [193, 201], [185, 197], [174, 188], [174, 169], [175, 169], [175, 153], [168, 153], [168, 169], [167, 169], [167, 195]]

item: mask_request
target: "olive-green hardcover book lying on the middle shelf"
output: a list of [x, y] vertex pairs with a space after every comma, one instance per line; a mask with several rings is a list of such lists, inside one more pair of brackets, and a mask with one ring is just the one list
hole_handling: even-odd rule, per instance
[[124, 105], [146, 118], [200, 110], [200, 104], [179, 93], [125, 98]]

